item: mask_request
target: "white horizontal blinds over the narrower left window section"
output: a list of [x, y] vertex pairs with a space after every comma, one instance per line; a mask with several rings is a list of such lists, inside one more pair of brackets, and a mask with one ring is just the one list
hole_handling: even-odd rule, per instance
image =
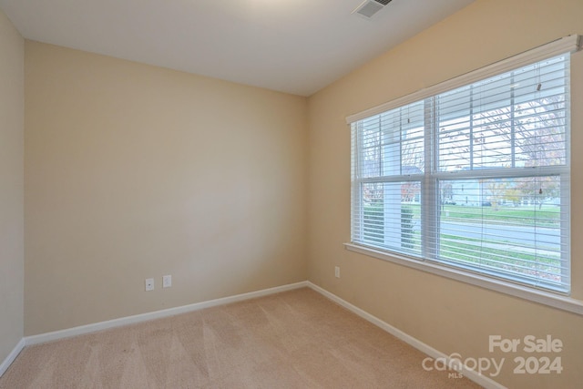
[[354, 139], [353, 242], [420, 253], [424, 103], [354, 123]]

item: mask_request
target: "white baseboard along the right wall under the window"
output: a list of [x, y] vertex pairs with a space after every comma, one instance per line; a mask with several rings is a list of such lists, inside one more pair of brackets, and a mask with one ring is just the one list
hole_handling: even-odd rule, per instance
[[[320, 286], [318, 286], [312, 282], [307, 282], [307, 284], [308, 284], [308, 287], [311, 288], [312, 290], [314, 290], [315, 292], [321, 293], [324, 297], [327, 297], [328, 299], [332, 300], [332, 302], [336, 302], [339, 305], [342, 305], [347, 310], [349, 310], [353, 313], [356, 313], [357, 315], [362, 317], [364, 320], [366, 320], [368, 322], [372, 322], [374, 325], [376, 325], [377, 327], [380, 327], [381, 329], [383, 329], [387, 333], [390, 333], [390, 334], [394, 335], [394, 337], [404, 341], [404, 343], [410, 344], [411, 346], [413, 346], [417, 350], [419, 350], [423, 353], [426, 353], [427, 355], [431, 356], [434, 359], [445, 358], [444, 360], [447, 361], [448, 366], [449, 365], [454, 365], [454, 366], [456, 365], [456, 363], [450, 363], [451, 358], [449, 356], [445, 355], [445, 353], [441, 353], [441, 352], [435, 350], [435, 348], [421, 342], [418, 339], [415, 339], [413, 336], [411, 336], [407, 333], [404, 333], [403, 331], [395, 328], [391, 324], [382, 321], [381, 319], [379, 319], [376, 316], [373, 316], [369, 312], [363, 311], [362, 309], [351, 304], [350, 302], [344, 301], [343, 299], [336, 296], [335, 294], [328, 292], [325, 289], [322, 289]], [[478, 374], [474, 370], [467, 369], [467, 368], [465, 368], [465, 366], [463, 366], [460, 373], [464, 374], [465, 377], [467, 377], [469, 380], [475, 382], [476, 384], [482, 385], [486, 389], [506, 389], [506, 386], [504, 386], [502, 384], [498, 384], [498, 383], [496, 383], [496, 381], [486, 377], [485, 375]]]

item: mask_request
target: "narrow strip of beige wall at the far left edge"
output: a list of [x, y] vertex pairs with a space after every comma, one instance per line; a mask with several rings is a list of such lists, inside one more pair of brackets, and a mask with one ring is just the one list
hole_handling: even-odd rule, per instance
[[0, 11], [0, 363], [23, 336], [25, 41]]

